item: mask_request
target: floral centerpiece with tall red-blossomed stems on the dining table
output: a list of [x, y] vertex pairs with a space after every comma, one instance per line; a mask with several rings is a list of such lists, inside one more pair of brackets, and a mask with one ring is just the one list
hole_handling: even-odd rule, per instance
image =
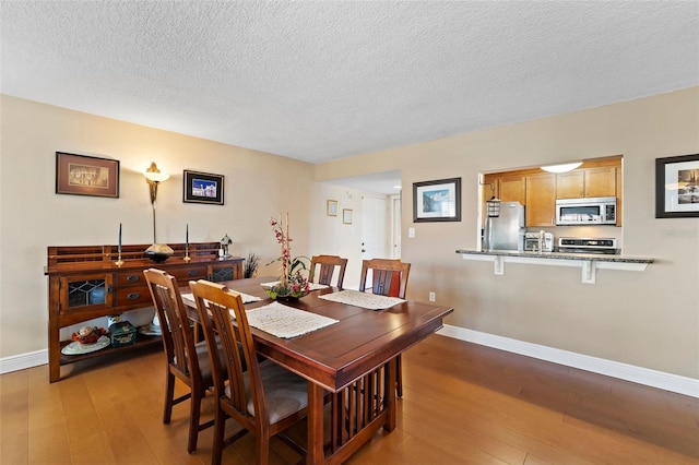
[[[270, 225], [276, 236], [276, 241], [282, 248], [280, 258], [281, 262], [280, 281], [273, 287], [266, 290], [266, 294], [273, 299], [299, 298], [308, 294], [310, 285], [305, 272], [307, 271], [305, 257], [292, 258], [292, 238], [288, 236], [288, 213], [286, 214], [286, 225], [282, 219], [276, 220], [270, 218]], [[276, 261], [275, 260], [275, 261]]]

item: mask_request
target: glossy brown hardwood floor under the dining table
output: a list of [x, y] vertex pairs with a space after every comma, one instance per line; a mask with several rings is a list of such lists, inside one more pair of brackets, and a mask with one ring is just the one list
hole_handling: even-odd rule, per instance
[[[47, 366], [1, 375], [0, 463], [211, 463], [211, 429], [186, 451], [187, 403], [162, 424], [162, 357], [76, 367], [54, 384]], [[398, 428], [347, 464], [699, 464], [695, 397], [437, 335], [405, 353], [403, 385]], [[273, 441], [272, 464], [298, 458]], [[254, 463], [253, 438], [224, 463]]]

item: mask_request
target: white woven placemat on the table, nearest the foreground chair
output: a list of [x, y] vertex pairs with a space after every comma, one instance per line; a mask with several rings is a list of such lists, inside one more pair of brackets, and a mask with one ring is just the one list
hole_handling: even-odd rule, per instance
[[[230, 314], [233, 315], [233, 311]], [[277, 301], [246, 310], [246, 314], [250, 326], [285, 339], [308, 334], [340, 321], [287, 307]]]

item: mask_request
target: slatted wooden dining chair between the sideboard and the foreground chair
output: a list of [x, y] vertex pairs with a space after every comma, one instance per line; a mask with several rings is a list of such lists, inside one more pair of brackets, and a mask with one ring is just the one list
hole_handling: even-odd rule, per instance
[[[173, 406], [190, 400], [189, 439], [187, 452], [197, 450], [199, 431], [213, 426], [213, 420], [200, 424], [201, 400], [213, 385], [211, 362], [206, 343], [194, 343], [192, 330], [182, 303], [177, 279], [162, 270], [144, 270], [153, 305], [161, 322], [161, 333], [167, 359], [165, 407], [163, 424], [169, 425]], [[216, 350], [218, 354], [218, 350]], [[189, 391], [175, 397], [175, 380], [185, 383]]]

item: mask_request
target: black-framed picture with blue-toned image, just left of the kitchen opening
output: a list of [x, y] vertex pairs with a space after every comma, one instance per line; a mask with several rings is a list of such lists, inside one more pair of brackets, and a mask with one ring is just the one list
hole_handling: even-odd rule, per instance
[[413, 222], [460, 222], [461, 178], [413, 183]]

